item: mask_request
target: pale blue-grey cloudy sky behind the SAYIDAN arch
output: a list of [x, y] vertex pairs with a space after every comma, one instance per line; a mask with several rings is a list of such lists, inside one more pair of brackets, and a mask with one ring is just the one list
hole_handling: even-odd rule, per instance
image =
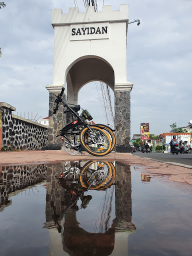
[[[76, 0], [84, 11], [83, 0]], [[53, 79], [51, 9], [68, 13], [73, 0], [4, 0], [0, 9], [0, 101], [16, 107], [25, 117], [48, 116], [48, 91]], [[150, 133], [168, 132], [169, 125], [187, 125], [192, 119], [192, 0], [97, 0], [119, 10], [129, 4], [127, 81], [132, 82], [131, 136], [140, 122], [149, 122]], [[85, 99], [85, 95], [86, 98]], [[112, 95], [112, 94], [111, 94]], [[112, 95], [113, 98], [113, 95]], [[95, 84], [79, 92], [79, 104], [95, 122], [106, 123], [95, 105]]]

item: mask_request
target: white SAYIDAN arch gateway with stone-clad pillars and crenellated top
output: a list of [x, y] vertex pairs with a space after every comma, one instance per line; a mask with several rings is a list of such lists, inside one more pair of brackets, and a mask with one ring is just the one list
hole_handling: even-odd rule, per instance
[[133, 84], [126, 81], [126, 34], [128, 4], [120, 4], [120, 10], [103, 5], [95, 12], [94, 6], [52, 9], [54, 28], [53, 84], [49, 91], [49, 129], [46, 149], [61, 149], [56, 131], [66, 123], [63, 107], [52, 114], [55, 95], [65, 87], [67, 103], [77, 104], [78, 91], [90, 81], [102, 81], [115, 97], [116, 152], [130, 152], [130, 91]]

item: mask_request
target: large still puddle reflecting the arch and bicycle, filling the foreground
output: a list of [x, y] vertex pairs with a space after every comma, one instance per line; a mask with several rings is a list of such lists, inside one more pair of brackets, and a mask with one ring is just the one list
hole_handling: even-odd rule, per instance
[[106, 161], [0, 166], [1, 256], [191, 255], [192, 195]]

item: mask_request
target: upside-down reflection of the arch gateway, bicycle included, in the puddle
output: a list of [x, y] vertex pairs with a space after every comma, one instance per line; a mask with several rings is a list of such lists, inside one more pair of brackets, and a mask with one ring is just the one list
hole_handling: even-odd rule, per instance
[[[115, 169], [108, 162], [89, 161], [83, 164], [70, 162], [68, 172], [63, 163], [47, 169], [44, 227], [49, 228], [49, 254], [127, 255], [127, 236], [135, 229], [131, 223], [130, 167], [120, 162], [115, 162]], [[61, 172], [63, 177], [55, 179]], [[114, 177], [116, 218], [111, 226], [107, 226], [109, 213], [105, 209], [105, 230], [97, 233], [84, 230], [76, 219], [77, 200], [81, 199], [80, 207], [88, 208], [91, 196], [85, 196], [84, 192], [88, 189], [105, 190], [114, 185]]]

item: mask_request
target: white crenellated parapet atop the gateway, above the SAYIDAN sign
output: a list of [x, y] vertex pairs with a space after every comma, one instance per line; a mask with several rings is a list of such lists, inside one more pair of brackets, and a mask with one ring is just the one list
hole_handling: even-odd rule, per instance
[[111, 10], [111, 5], [103, 5], [102, 11], [94, 11], [94, 6], [86, 6], [85, 12], [79, 12], [78, 7], [69, 8], [68, 13], [62, 9], [52, 9], [52, 26], [78, 23], [126, 21], [128, 22], [128, 4], [120, 4], [120, 10]]

